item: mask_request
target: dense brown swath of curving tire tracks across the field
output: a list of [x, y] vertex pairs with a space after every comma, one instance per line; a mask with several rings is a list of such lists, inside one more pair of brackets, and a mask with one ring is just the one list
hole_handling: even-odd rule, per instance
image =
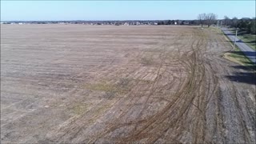
[[[159, 73], [159, 70], [163, 67], [163, 62], [167, 59], [165, 55], [170, 54], [170, 51], [166, 50], [159, 54], [160, 64], [158, 65], [158, 75], [154, 79], [154, 82], [152, 82], [150, 90], [148, 90], [150, 91], [149, 94], [142, 96], [146, 97], [146, 100], [143, 102], [142, 111], [134, 120], [122, 122], [122, 117], [125, 117], [125, 114], [121, 114], [113, 120], [114, 122], [107, 125], [101, 133], [96, 134], [97, 136], [90, 142], [96, 142], [98, 139], [106, 137], [106, 135], [111, 137], [114, 131], [120, 130], [123, 127], [127, 127], [128, 130], [130, 128], [129, 132], [123, 137], [118, 135], [114, 138], [106, 139], [110, 142], [114, 141], [118, 143], [140, 141], [152, 143], [161, 142], [161, 140], [178, 142], [178, 137], [182, 135], [182, 131], [188, 130], [184, 126], [186, 122], [189, 122], [190, 126], [193, 126], [193, 129], [188, 130], [192, 134], [191, 137], [194, 138], [193, 142], [205, 142], [206, 106], [210, 97], [218, 90], [218, 80], [211, 73], [211, 69], [206, 69], [203, 63], [201, 50], [206, 47], [206, 39], [200, 36], [202, 40], [198, 41], [197, 36], [191, 36], [193, 39], [190, 50], [180, 52], [177, 58], [170, 59], [168, 65], [164, 66], [165, 70], [161, 73]], [[171, 45], [170, 43], [169, 46]], [[179, 46], [178, 49], [182, 49], [182, 47]], [[166, 46], [166, 49], [168, 49], [168, 46]], [[174, 81], [178, 81], [176, 82], [178, 86], [173, 86], [174, 82], [172, 81], [167, 82], [165, 86], [159, 86], [159, 83], [166, 79], [162, 77], [171, 76], [171, 70], [168, 70], [168, 68], [175, 65], [179, 67], [179, 71], [185, 74], [185, 76], [180, 75], [180, 78], [174, 79]], [[174, 93], [168, 94], [169, 91], [174, 91]], [[159, 92], [167, 93], [162, 94], [166, 97], [165, 106], [161, 110], [158, 110], [156, 114], [142, 117], [142, 113], [146, 111], [146, 105], [155, 102], [150, 97], [158, 95]], [[128, 97], [130, 98], [130, 96]], [[162, 101], [162, 99], [159, 100]], [[126, 107], [124, 109], [126, 112], [129, 110]], [[193, 117], [193, 119], [190, 117]], [[171, 134], [171, 131], [174, 131], [174, 134]]]

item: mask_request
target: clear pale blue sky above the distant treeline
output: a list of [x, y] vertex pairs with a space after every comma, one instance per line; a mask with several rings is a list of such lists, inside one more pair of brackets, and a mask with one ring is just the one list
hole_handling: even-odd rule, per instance
[[2, 1], [1, 21], [166, 20], [255, 17], [255, 1]]

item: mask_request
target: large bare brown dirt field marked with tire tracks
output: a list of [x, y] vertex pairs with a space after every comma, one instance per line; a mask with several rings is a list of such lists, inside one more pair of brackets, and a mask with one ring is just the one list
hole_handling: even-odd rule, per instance
[[1, 142], [254, 143], [231, 49], [194, 26], [1, 25]]

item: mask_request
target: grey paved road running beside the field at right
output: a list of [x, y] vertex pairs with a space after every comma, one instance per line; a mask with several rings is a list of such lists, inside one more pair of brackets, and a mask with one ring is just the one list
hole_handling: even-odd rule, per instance
[[[235, 35], [230, 32], [226, 28], [222, 28], [222, 31], [228, 38], [230, 38], [230, 41], [234, 43]], [[250, 48], [250, 46], [247, 46], [246, 43], [242, 42], [241, 39], [237, 38], [236, 46], [246, 55], [247, 58], [250, 59], [251, 62], [256, 63], [256, 51]]]

